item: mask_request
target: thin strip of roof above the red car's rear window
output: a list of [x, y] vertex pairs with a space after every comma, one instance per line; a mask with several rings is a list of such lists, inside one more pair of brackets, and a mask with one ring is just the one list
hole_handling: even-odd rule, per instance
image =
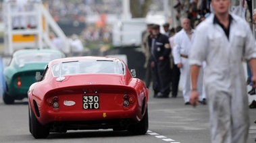
[[69, 58], [59, 58], [56, 60], [52, 60], [49, 62], [49, 65], [57, 64], [60, 62], [70, 62], [76, 60], [115, 60], [115, 61], [122, 61], [119, 58], [113, 57], [106, 57], [106, 56], [79, 56], [79, 57], [69, 57]]

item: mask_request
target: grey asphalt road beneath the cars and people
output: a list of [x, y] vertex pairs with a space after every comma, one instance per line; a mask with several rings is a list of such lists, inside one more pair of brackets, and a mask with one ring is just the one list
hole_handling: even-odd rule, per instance
[[[150, 90], [151, 91], [151, 90]], [[152, 93], [152, 91], [150, 92]], [[255, 142], [256, 109], [250, 109], [251, 128], [247, 143]], [[184, 105], [181, 95], [177, 98], [155, 99], [149, 97], [149, 132], [133, 136], [129, 132], [112, 130], [68, 131], [50, 134], [47, 139], [34, 139], [28, 131], [28, 102], [5, 105], [0, 99], [0, 142], [149, 142], [149, 143], [209, 143], [209, 113], [207, 105], [196, 108]]]

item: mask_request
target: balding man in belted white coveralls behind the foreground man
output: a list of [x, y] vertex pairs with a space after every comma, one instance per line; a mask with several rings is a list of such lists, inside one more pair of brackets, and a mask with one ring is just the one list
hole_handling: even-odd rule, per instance
[[[188, 56], [190, 54], [191, 46], [195, 38], [195, 30], [190, 26], [190, 20], [188, 18], [182, 19], [182, 30], [178, 32], [174, 38], [176, 46], [174, 46], [174, 64], [177, 64], [180, 68], [180, 74], [182, 77], [182, 93], [184, 97], [185, 105], [189, 105], [190, 95], [190, 66], [188, 64]], [[204, 102], [205, 94], [203, 94], [203, 70], [200, 70], [198, 80], [200, 101]], [[205, 103], [203, 103], [205, 104]]]

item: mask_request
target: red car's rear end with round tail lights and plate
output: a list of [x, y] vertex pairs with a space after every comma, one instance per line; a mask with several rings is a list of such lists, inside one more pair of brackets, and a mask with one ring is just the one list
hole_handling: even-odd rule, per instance
[[[55, 89], [45, 95], [41, 124], [58, 130], [127, 130], [144, 114], [147, 91], [125, 85], [86, 85]], [[39, 110], [39, 109], [38, 109]]]

